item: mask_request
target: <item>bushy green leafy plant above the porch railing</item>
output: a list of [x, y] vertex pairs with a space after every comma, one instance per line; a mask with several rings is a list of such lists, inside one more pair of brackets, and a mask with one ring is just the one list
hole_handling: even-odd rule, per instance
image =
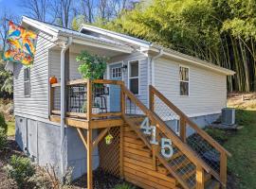
[[82, 51], [76, 60], [81, 63], [78, 70], [83, 78], [100, 79], [103, 77], [106, 70], [107, 59], [105, 57]]

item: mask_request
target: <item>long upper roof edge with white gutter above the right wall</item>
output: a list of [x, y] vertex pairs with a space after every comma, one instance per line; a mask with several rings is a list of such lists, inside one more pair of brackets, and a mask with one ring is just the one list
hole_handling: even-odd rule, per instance
[[175, 58], [175, 59], [178, 59], [178, 60], [187, 61], [187, 62], [190, 62], [194, 65], [201, 66], [201, 67], [204, 67], [204, 68], [208, 68], [210, 70], [217, 71], [217, 72], [225, 74], [227, 76], [232, 76], [232, 75], [235, 74], [234, 71], [229, 70], [229, 69], [224, 68], [224, 67], [221, 67], [221, 66], [218, 66], [218, 65], [213, 64], [209, 61], [200, 60], [200, 59], [197, 59], [195, 57], [192, 57], [192, 56], [174, 51], [173, 49], [165, 48], [161, 45], [158, 45], [158, 44], [155, 44], [155, 43], [150, 43], [150, 42], [147, 42], [147, 41], [144, 41], [144, 40], [140, 40], [140, 39], [137, 39], [137, 38], [134, 38], [134, 37], [131, 37], [131, 36], [128, 36], [128, 35], [124, 35], [124, 34], [121, 34], [121, 33], [118, 33], [118, 32], [110, 31], [110, 30], [103, 29], [103, 28], [96, 27], [96, 26], [82, 25], [80, 27], [80, 32], [82, 32], [84, 30], [89, 30], [89, 31], [92, 31], [92, 32], [99, 33], [99, 34], [101, 34], [103, 36], [106, 36], [106, 37], [109, 37], [110, 39], [113, 39], [113, 40], [117, 39], [118, 41], [124, 42], [127, 45], [131, 45], [131, 43], [133, 43], [135, 45], [139, 45], [140, 47], [142, 47], [142, 51], [151, 50], [151, 51], [155, 51], [155, 52], [160, 52], [162, 50], [163, 54], [165, 56]]

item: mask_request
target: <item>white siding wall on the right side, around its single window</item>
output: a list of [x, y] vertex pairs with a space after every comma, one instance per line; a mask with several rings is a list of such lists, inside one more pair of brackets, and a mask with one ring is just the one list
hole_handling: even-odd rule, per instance
[[[179, 95], [179, 65], [190, 68], [190, 95]], [[155, 88], [189, 116], [221, 112], [227, 104], [227, 77], [174, 60], [157, 59]]]

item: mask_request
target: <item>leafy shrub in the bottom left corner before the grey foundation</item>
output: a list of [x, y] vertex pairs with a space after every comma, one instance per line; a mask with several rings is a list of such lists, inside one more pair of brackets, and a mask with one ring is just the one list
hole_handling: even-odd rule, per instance
[[29, 178], [35, 174], [35, 167], [30, 163], [28, 158], [12, 155], [9, 165], [5, 167], [10, 179], [17, 182], [19, 188], [29, 186]]

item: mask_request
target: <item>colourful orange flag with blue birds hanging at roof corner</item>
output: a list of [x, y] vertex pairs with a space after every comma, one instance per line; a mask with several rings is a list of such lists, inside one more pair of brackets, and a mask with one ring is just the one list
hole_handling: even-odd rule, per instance
[[37, 34], [9, 21], [9, 32], [4, 51], [4, 60], [31, 65], [34, 60]]

